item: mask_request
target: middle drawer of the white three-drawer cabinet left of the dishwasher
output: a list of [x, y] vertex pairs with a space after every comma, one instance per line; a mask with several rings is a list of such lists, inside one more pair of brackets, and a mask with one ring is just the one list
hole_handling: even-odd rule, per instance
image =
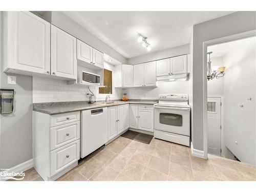
[[55, 126], [50, 129], [51, 151], [80, 138], [80, 121]]

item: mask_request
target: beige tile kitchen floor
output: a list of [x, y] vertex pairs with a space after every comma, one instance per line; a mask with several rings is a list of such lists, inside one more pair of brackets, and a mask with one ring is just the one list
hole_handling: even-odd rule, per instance
[[[25, 181], [41, 181], [35, 169]], [[190, 148], [153, 138], [150, 144], [118, 137], [79, 162], [58, 181], [256, 181], [256, 167], [209, 156], [191, 156]]]

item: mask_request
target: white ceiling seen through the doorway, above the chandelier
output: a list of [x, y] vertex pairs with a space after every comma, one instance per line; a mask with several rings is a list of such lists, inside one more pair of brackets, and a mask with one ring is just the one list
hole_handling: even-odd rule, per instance
[[250, 50], [256, 45], [256, 37], [250, 37], [230, 42], [225, 42], [224, 44], [218, 44], [207, 47], [207, 52], [212, 51], [210, 55], [211, 58], [223, 57], [233, 50]]

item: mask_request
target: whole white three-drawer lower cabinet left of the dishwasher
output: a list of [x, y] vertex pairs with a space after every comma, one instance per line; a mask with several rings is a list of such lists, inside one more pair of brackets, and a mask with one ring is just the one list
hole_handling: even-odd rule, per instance
[[80, 159], [80, 111], [48, 115], [33, 111], [33, 161], [45, 181], [74, 168]]

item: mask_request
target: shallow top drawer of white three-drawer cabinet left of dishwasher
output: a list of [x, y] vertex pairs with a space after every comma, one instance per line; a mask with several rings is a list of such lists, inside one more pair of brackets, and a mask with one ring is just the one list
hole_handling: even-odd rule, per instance
[[51, 127], [80, 120], [80, 111], [51, 115]]

